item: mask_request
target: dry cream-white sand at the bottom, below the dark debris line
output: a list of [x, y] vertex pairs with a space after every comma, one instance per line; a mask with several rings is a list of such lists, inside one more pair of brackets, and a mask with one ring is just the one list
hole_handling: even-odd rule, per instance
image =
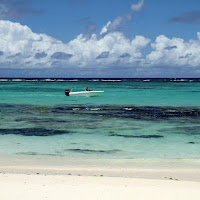
[[200, 182], [41, 174], [0, 174], [1, 200], [199, 200]]

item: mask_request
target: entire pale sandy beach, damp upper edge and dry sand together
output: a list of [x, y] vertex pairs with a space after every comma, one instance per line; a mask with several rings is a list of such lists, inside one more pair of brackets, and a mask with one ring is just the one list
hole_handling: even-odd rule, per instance
[[0, 200], [200, 199], [199, 160], [102, 163], [1, 157]]

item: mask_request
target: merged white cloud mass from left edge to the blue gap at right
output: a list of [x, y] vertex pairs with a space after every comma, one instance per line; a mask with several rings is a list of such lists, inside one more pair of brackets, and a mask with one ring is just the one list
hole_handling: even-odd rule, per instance
[[0, 21], [0, 63], [10, 68], [108, 67], [120, 56], [127, 58], [127, 65], [133, 65], [149, 42], [143, 36], [129, 40], [123, 33], [112, 32], [104, 37], [92, 34], [90, 38], [80, 34], [63, 43], [19, 23]]

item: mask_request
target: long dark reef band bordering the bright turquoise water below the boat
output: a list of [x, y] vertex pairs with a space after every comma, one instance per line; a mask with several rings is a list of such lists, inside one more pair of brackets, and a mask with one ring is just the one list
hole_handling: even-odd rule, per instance
[[[0, 104], [0, 113], [20, 112], [31, 115], [94, 115], [134, 119], [166, 119], [172, 117], [200, 117], [199, 108], [161, 107], [161, 106], [118, 106], [118, 105], [70, 105], [70, 106], [33, 106]], [[56, 120], [56, 119], [51, 119]]]

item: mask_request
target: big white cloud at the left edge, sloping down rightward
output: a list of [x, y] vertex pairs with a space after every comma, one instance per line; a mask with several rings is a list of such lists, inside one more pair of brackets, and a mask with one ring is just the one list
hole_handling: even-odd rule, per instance
[[[0, 49], [3, 56], [0, 57], [1, 67], [24, 68], [50, 67], [50, 57], [56, 52], [67, 51], [66, 44], [46, 34], [36, 34], [27, 26], [10, 21], [0, 21]], [[15, 56], [16, 54], [19, 54]], [[47, 54], [42, 59], [36, 59], [38, 53]]]

